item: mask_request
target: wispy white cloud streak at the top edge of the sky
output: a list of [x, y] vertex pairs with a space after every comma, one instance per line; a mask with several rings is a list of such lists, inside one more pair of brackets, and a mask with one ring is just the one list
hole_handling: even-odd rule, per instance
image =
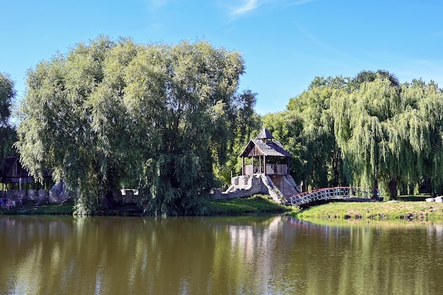
[[[285, 6], [296, 6], [307, 4], [315, 0], [241, 0], [235, 3], [227, 4], [229, 9], [229, 16], [231, 18], [238, 18], [248, 14], [257, 12], [259, 8], [275, 8]], [[225, 4], [226, 5], [226, 4]]]

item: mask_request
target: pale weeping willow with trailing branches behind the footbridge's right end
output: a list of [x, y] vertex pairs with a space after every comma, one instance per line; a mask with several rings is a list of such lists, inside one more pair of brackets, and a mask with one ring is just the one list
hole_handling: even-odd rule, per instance
[[335, 98], [335, 136], [347, 179], [352, 185], [377, 188], [390, 177], [384, 163], [395, 157], [384, 125], [398, 108], [398, 88], [379, 78], [350, 94], [338, 92]]

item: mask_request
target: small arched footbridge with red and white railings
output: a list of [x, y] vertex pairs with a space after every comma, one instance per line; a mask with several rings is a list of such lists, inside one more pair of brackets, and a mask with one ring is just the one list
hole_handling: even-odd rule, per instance
[[371, 199], [374, 194], [380, 199], [380, 190], [371, 187], [326, 187], [309, 192], [301, 192], [289, 197], [292, 205], [300, 206], [323, 199], [350, 198]]

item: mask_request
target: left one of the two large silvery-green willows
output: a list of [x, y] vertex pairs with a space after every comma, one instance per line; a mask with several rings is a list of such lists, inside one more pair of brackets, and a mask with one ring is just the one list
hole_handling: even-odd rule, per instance
[[[105, 141], [123, 144], [129, 138], [115, 105], [122, 88], [114, 88], [105, 76], [115, 47], [107, 37], [98, 37], [28, 71], [16, 144], [21, 161], [37, 179], [46, 168], [55, 180], [63, 178], [76, 193], [78, 214], [91, 214], [91, 202], [110, 205], [120, 185], [125, 154]], [[106, 116], [108, 122], [100, 125]]]

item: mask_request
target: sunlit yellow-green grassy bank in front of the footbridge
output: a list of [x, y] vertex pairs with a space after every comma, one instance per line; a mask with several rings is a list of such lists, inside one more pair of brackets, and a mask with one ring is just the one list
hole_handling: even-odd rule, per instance
[[293, 212], [292, 216], [298, 219], [443, 221], [443, 203], [333, 202]]

